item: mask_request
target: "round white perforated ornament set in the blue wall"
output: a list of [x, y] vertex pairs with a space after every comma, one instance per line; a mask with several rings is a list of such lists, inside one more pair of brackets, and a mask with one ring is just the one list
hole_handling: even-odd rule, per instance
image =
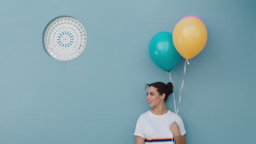
[[60, 17], [46, 28], [44, 47], [51, 57], [70, 61], [78, 57], [86, 45], [86, 31], [73, 17]]

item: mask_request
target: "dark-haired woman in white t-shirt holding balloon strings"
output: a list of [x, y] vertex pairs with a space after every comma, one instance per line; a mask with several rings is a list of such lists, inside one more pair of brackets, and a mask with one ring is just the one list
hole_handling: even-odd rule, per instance
[[185, 144], [185, 128], [182, 118], [166, 109], [165, 101], [173, 93], [171, 82], [147, 84], [147, 100], [152, 110], [139, 116], [135, 133], [136, 144], [173, 143]]

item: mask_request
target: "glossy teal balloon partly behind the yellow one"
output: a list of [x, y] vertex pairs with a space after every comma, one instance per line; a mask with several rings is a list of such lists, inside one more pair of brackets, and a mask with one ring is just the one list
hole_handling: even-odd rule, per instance
[[172, 33], [160, 32], [149, 43], [149, 56], [159, 68], [171, 71], [181, 59], [172, 41]]

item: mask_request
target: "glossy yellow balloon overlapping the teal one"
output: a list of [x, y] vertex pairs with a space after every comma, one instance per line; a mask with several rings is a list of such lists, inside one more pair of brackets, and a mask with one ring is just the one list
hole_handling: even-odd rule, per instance
[[173, 29], [172, 40], [182, 57], [190, 59], [200, 53], [207, 41], [207, 29], [196, 17], [185, 17]]

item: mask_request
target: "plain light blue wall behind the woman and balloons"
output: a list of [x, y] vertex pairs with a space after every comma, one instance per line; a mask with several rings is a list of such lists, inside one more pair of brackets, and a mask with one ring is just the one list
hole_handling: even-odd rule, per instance
[[[135, 143], [150, 109], [144, 83], [168, 82], [148, 44], [183, 16], [208, 29], [187, 68], [179, 114], [187, 143], [254, 143], [256, 2], [231, 0], [2, 1], [0, 143]], [[81, 56], [60, 62], [44, 50], [44, 29], [59, 16], [86, 28]], [[176, 95], [184, 59], [172, 71]], [[173, 100], [167, 101], [173, 110]]]

